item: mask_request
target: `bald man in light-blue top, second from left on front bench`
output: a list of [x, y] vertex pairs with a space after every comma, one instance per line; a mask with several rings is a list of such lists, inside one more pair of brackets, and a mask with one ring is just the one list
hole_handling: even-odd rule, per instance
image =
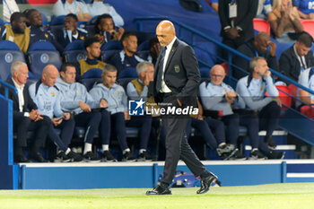
[[[39, 113], [51, 119], [48, 137], [57, 145], [57, 161], [82, 161], [81, 155], [72, 152], [68, 145], [74, 132], [74, 120], [70, 113], [63, 112], [60, 106], [60, 92], [55, 84], [59, 72], [55, 65], [47, 65], [41, 75], [41, 81], [31, 84], [29, 91], [31, 99], [36, 103]], [[61, 129], [59, 137], [54, 126]]]

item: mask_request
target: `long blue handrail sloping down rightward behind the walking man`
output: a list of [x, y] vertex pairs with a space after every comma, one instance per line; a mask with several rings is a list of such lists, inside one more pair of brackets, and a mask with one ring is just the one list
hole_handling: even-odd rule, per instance
[[[161, 20], [170, 20], [170, 19], [168, 17], [136, 17], [134, 19], [135, 22], [140, 22], [140, 21], [161, 21]], [[236, 55], [238, 57], [242, 57], [242, 58], [244, 58], [244, 59], [246, 59], [248, 61], [251, 60], [250, 57], [241, 54], [240, 52], [238, 52], [234, 48], [230, 48], [228, 46], [225, 46], [224, 44], [222, 44], [221, 42], [217, 41], [216, 39], [208, 37], [207, 35], [205, 35], [205, 33], [201, 32], [201, 31], [195, 30], [195, 29], [191, 28], [190, 26], [188, 26], [188, 25], [186, 25], [184, 23], [181, 23], [181, 22], [176, 22], [176, 21], [172, 21], [172, 20], [171, 20], [171, 22], [174, 23], [174, 24], [179, 25], [179, 27], [182, 27], [182, 28], [185, 28], [187, 30], [190, 30], [191, 32], [195, 33], [196, 35], [200, 36], [203, 39], [206, 39], [206, 40], [209, 40], [211, 42], [214, 42], [214, 44], [220, 46], [221, 48], [227, 49], [229, 52], [231, 52], [232, 54], [234, 54], [234, 55]], [[138, 25], [139, 25], [139, 28], [140, 28], [141, 27], [140, 23], [138, 23]], [[193, 40], [194, 39], [192, 39], [192, 44], [193, 44]], [[229, 62], [230, 62], [230, 65], [232, 65], [231, 57], [229, 57]], [[298, 88], [300, 88], [300, 89], [302, 89], [304, 91], [308, 91], [311, 94], [314, 94], [313, 90], [310, 90], [309, 88], [306, 88], [305, 86], [301, 85], [300, 83], [297, 83], [297, 82], [293, 81], [291, 78], [285, 76], [284, 74], [280, 74], [279, 72], [277, 72], [277, 71], [275, 71], [275, 70], [273, 70], [271, 68], [269, 68], [269, 70], [272, 72], [272, 74], [275, 74], [276, 76], [278, 76], [280, 78], [283, 78], [285, 81], [287, 81], [289, 83], [292, 83], [293, 85], [297, 86]]]

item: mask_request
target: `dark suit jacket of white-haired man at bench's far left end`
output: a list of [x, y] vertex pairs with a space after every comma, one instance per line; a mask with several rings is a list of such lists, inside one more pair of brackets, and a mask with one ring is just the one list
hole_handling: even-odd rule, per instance
[[[7, 80], [6, 83], [9, 83], [14, 86], [13, 80]], [[13, 100], [13, 118], [15, 117], [22, 117], [24, 116], [24, 112], [31, 112], [31, 109], [38, 109], [37, 105], [33, 100], [31, 100], [30, 92], [29, 92], [29, 84], [25, 84], [24, 90], [23, 90], [23, 97], [24, 97], [24, 106], [23, 111], [20, 112], [19, 109], [19, 97], [13, 90], [9, 90], [9, 99]], [[2, 91], [4, 89], [2, 88]]]

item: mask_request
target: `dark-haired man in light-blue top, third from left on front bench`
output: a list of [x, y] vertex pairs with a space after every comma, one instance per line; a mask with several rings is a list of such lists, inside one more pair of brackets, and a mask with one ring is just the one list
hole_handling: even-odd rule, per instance
[[92, 141], [99, 126], [101, 113], [92, 111], [99, 105], [92, 99], [82, 83], [75, 83], [75, 66], [70, 63], [61, 65], [60, 78], [57, 78], [57, 88], [60, 91], [61, 109], [73, 112], [76, 126], [85, 127], [83, 158], [86, 161], [100, 161], [92, 152]]

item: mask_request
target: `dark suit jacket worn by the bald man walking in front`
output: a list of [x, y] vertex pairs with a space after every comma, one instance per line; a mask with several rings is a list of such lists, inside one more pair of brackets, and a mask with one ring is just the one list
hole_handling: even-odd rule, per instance
[[[160, 62], [161, 56], [157, 58], [153, 76], [153, 96], [156, 102], [161, 101], [156, 89], [157, 75], [162, 70]], [[175, 40], [171, 48], [165, 66], [164, 81], [183, 105], [196, 106], [196, 92], [200, 82], [196, 56], [193, 48], [179, 39]]]

